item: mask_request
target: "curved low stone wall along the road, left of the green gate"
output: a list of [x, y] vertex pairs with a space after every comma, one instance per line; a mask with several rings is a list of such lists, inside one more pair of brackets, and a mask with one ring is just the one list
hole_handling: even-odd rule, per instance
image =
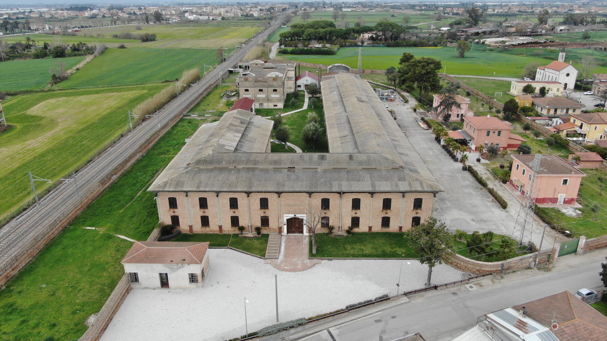
[[[552, 262], [556, 260], [559, 247], [560, 244], [554, 248], [555, 257], [552, 258]], [[546, 263], [548, 255], [552, 254], [552, 251], [553, 250], [546, 250], [540, 252], [540, 265]], [[480, 262], [478, 260], [466, 258], [463, 255], [455, 254], [455, 257], [452, 258], [449, 265], [453, 266], [453, 268], [459, 269], [460, 271], [471, 272], [472, 274], [477, 275], [486, 274], [487, 272], [500, 272], [501, 274], [505, 274], [506, 272], [529, 268], [529, 266], [531, 266], [531, 262], [535, 261], [535, 255], [537, 255], [537, 252], [510, 258], [501, 262]]]

